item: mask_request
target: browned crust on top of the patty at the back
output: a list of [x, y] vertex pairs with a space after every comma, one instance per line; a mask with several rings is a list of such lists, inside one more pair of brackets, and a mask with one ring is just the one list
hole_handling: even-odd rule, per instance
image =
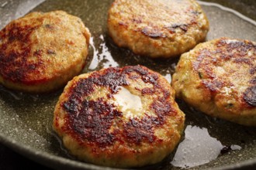
[[[178, 3], [172, 3], [171, 6], [171, 2], [168, 2], [168, 5], [163, 5], [163, 2], [159, 1], [158, 6], [149, 6], [147, 4], [147, 2], [144, 3], [138, 3], [140, 5], [140, 8], [142, 9], [149, 9], [152, 8], [152, 11], [157, 10], [157, 8], [163, 8], [164, 12], [167, 12], [168, 15], [180, 15], [179, 19], [178, 16], [176, 16], [176, 20], [174, 21], [169, 21], [171, 22], [170, 26], [157, 26], [154, 22], [156, 22], [156, 19], [161, 19], [161, 16], [159, 17], [159, 15], [161, 14], [153, 14], [155, 15], [155, 17], [149, 18], [149, 19], [144, 19], [143, 15], [132, 15], [131, 18], [129, 20], [124, 20], [124, 21], [119, 21], [119, 26], [125, 26], [126, 28], [128, 28], [128, 26], [133, 25], [134, 27], [132, 27], [134, 32], [141, 32], [142, 34], [144, 34], [144, 36], [148, 36], [149, 38], [152, 39], [157, 39], [157, 38], [168, 38], [169, 37], [169, 33], [171, 34], [175, 34], [175, 32], [178, 31], [178, 29], [182, 30], [183, 34], [185, 32], [188, 31], [188, 29], [190, 29], [190, 27], [195, 26], [195, 25], [199, 25], [198, 23], [198, 15], [202, 13], [201, 9], [195, 9], [195, 7], [193, 6], [195, 2], [193, 1], [182, 1], [180, 2], [181, 4], [184, 5], [188, 5], [187, 8], [183, 9], [182, 5], [178, 5]], [[122, 5], [122, 1], [115, 1], [112, 3], [112, 8], [115, 5]], [[129, 6], [128, 6], [129, 8]], [[130, 8], [130, 10], [132, 10], [132, 8]], [[150, 11], [148, 11], [150, 12]], [[180, 14], [179, 14], [180, 12]], [[122, 13], [122, 12], [119, 12]], [[116, 15], [119, 15], [116, 14]], [[183, 19], [182, 15], [187, 15], [186, 18], [187, 19]], [[110, 15], [110, 14], [109, 14]], [[130, 15], [130, 14], [128, 14]], [[164, 19], [164, 18], [163, 18]], [[140, 24], [143, 23], [145, 24], [145, 26], [143, 27], [137, 27], [140, 26]]]

